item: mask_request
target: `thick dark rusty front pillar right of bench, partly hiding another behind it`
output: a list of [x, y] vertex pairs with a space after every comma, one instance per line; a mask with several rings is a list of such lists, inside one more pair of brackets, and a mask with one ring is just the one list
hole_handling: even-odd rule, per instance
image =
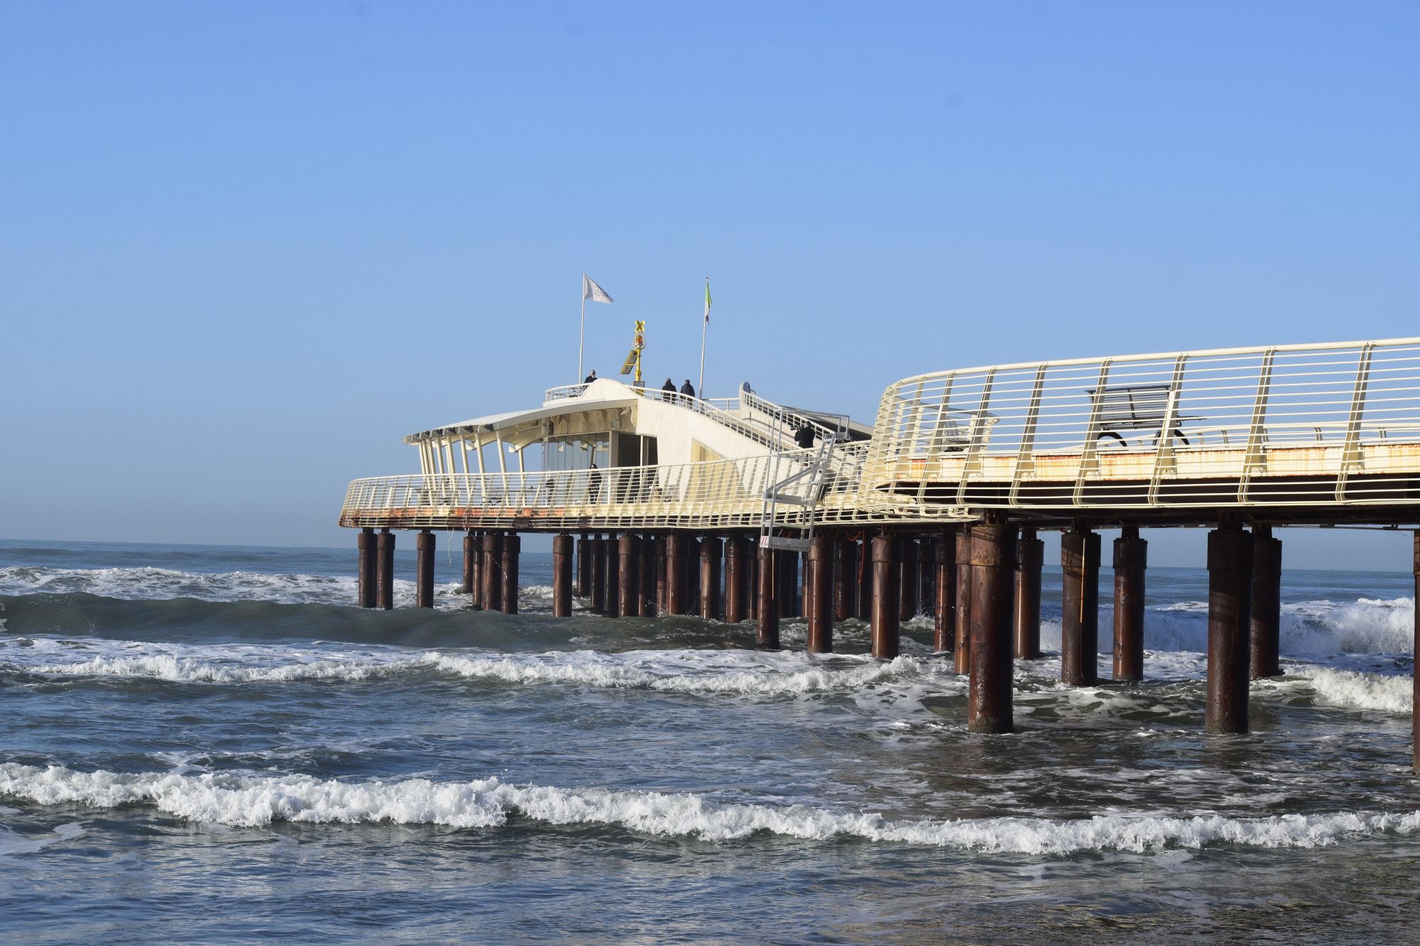
[[1252, 537], [1227, 521], [1208, 533], [1210, 733], [1247, 732]]

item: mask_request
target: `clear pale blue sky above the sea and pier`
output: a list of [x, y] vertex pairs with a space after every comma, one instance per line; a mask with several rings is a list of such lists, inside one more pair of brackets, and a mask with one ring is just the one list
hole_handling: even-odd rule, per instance
[[0, 535], [354, 547], [405, 433], [574, 379], [584, 270], [601, 374], [645, 318], [648, 376], [693, 378], [710, 276], [707, 393], [865, 419], [922, 371], [1420, 334], [1417, 37], [1380, 1], [7, 0]]

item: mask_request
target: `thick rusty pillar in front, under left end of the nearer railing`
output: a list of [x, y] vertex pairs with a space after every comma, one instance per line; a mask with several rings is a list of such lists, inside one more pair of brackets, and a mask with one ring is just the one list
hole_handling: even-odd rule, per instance
[[1011, 631], [1015, 526], [971, 527], [971, 679], [967, 729], [1011, 732]]

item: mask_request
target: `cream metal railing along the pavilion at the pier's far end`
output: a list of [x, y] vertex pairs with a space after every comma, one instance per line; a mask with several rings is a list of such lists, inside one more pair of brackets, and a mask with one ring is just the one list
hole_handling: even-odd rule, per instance
[[[821, 521], [870, 521], [859, 513], [858, 476], [866, 445], [836, 445], [838, 463], [821, 484]], [[807, 467], [816, 450], [669, 466], [535, 473], [442, 473], [355, 480], [341, 507], [342, 526], [480, 527], [537, 523], [592, 527], [758, 526], [764, 490], [785, 470]], [[798, 489], [807, 490], [808, 483]], [[792, 524], [802, 507], [785, 507]]]

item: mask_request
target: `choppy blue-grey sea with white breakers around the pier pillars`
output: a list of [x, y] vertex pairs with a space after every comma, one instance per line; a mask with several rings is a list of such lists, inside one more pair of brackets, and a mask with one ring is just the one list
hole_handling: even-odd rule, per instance
[[926, 618], [809, 656], [554, 619], [550, 555], [517, 615], [443, 547], [433, 611], [355, 565], [0, 541], [0, 940], [1420, 942], [1409, 574], [1287, 571], [1284, 673], [1208, 736], [1206, 572], [1147, 572], [1143, 683], [1075, 687], [1047, 568], [981, 736]]

